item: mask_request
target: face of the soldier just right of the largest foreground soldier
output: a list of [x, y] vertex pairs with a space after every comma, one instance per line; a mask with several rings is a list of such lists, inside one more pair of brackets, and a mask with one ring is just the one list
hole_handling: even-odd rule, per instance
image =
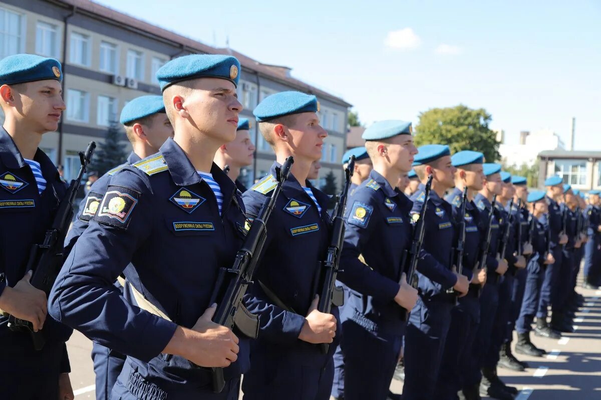
[[287, 126], [291, 140], [288, 141], [295, 156], [317, 161], [322, 158], [323, 140], [328, 132], [319, 125], [315, 112], [301, 112], [294, 115], [294, 124]]

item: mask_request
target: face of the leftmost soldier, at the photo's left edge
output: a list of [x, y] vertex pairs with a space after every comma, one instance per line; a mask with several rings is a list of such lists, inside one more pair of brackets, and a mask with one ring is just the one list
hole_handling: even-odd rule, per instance
[[34, 132], [43, 134], [56, 131], [66, 108], [61, 83], [48, 79], [28, 82], [21, 88], [20, 92], [13, 91], [15, 102], [13, 111], [19, 115], [19, 118], [26, 120]]

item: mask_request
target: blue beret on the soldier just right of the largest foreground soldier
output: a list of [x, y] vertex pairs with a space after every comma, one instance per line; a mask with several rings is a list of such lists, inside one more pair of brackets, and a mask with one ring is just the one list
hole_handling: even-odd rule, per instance
[[265, 97], [252, 111], [258, 122], [266, 122], [285, 115], [318, 112], [319, 102], [312, 94], [300, 91], [281, 91]]

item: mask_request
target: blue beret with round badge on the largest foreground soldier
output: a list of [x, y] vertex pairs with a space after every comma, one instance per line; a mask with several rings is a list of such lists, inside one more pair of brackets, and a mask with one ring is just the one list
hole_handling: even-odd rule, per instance
[[191, 54], [173, 60], [156, 72], [160, 90], [197, 78], [221, 78], [236, 87], [240, 79], [240, 61], [231, 55]]

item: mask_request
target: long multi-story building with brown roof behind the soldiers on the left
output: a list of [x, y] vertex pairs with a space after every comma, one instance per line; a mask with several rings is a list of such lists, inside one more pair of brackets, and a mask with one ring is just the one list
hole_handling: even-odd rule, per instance
[[[68, 179], [79, 169], [78, 151], [90, 140], [102, 142], [129, 100], [160, 94], [155, 73], [163, 64], [182, 55], [205, 53], [231, 54], [240, 60], [238, 93], [244, 106], [240, 117], [254, 119], [252, 109], [257, 103], [278, 91], [315, 94], [322, 126], [329, 134], [320, 177], [333, 171], [341, 185], [340, 159], [346, 149], [350, 104], [293, 78], [287, 67], [261, 64], [231, 49], [212, 48], [89, 0], [1, 0], [0, 58], [23, 52], [63, 63], [67, 110], [58, 131], [45, 134], [40, 147], [56, 164], [64, 165]], [[254, 165], [243, 171], [247, 185], [269, 171], [274, 159], [255, 123], [251, 137], [257, 152]], [[129, 152], [125, 135], [123, 140]]]

